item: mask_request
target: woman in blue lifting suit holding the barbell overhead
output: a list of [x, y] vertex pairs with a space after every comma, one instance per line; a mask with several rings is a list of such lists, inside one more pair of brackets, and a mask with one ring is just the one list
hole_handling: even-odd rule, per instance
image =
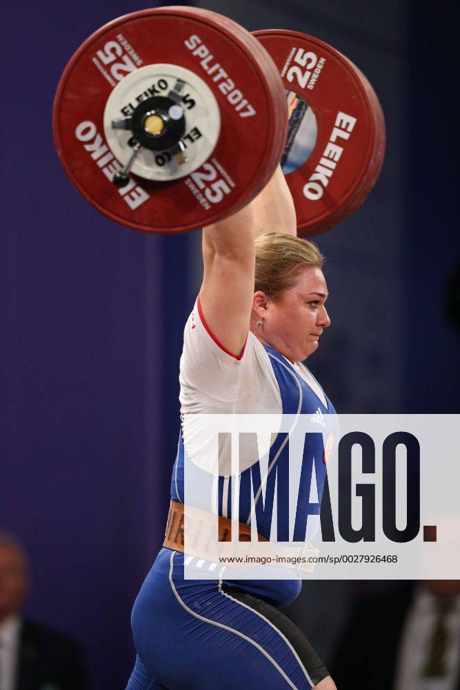
[[[334, 413], [301, 364], [330, 324], [323, 257], [297, 238], [281, 168], [246, 208], [203, 229], [203, 261], [203, 284], [184, 331], [183, 415]], [[277, 443], [277, 462], [286, 462], [287, 446]], [[186, 455], [181, 433], [171, 482], [178, 507]], [[315, 464], [315, 471], [321, 502], [325, 465]], [[250, 472], [243, 468], [241, 484]], [[230, 517], [228, 478], [218, 477], [223, 517]], [[240, 509], [240, 522], [247, 517]], [[269, 524], [258, 521], [257, 529], [270, 533]], [[305, 635], [279, 611], [297, 597], [300, 580], [185, 580], [184, 558], [192, 560], [163, 546], [137, 596], [137, 660], [128, 690], [336, 688]]]

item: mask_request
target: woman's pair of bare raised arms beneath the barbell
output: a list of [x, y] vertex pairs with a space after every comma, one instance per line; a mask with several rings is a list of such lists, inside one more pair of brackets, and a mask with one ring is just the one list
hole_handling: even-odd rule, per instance
[[294, 202], [280, 166], [251, 204], [203, 228], [201, 310], [214, 338], [235, 357], [248, 337], [254, 239], [264, 233], [297, 234]]

